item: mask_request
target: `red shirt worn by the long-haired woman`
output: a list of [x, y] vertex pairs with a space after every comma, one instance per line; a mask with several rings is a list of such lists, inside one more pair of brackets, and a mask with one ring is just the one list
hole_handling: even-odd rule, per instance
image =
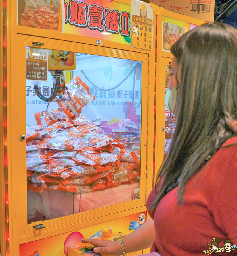
[[[233, 137], [223, 146], [236, 142]], [[220, 247], [226, 239], [237, 245], [237, 145], [219, 149], [207, 167], [190, 179], [181, 206], [177, 189], [167, 193], [155, 210], [152, 251], [162, 256], [205, 255], [207, 243], [215, 237], [221, 238]], [[148, 209], [155, 196], [153, 189]], [[152, 217], [153, 212], [148, 212]], [[216, 254], [237, 255], [237, 249], [228, 254], [212, 253]]]

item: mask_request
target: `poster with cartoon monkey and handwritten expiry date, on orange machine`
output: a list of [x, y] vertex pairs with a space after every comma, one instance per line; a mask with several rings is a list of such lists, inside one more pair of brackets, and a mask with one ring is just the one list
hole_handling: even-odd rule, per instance
[[152, 50], [153, 10], [148, 3], [132, 1], [131, 47]]

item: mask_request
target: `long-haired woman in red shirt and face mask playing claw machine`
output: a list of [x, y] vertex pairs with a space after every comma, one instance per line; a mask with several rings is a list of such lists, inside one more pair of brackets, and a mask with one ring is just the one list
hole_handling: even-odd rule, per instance
[[[123, 239], [125, 253], [153, 244], [162, 256], [203, 255], [213, 237], [237, 244], [237, 34], [204, 24], [171, 52], [176, 130], [148, 198], [152, 218]], [[82, 241], [98, 253], [123, 253], [120, 242]]]

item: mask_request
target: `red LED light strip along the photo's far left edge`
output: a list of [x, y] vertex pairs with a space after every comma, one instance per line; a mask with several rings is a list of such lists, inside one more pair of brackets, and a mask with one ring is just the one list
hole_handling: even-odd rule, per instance
[[8, 173], [7, 173], [7, 0], [3, 0], [3, 151], [5, 181], [6, 255], [9, 251]]

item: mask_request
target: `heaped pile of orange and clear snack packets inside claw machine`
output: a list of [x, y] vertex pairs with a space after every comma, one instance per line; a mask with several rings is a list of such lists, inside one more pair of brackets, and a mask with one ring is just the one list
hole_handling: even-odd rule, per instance
[[49, 115], [36, 113], [38, 125], [26, 127], [28, 190], [86, 193], [139, 176], [140, 152], [126, 142], [104, 134], [83, 115], [71, 120], [60, 108]]

